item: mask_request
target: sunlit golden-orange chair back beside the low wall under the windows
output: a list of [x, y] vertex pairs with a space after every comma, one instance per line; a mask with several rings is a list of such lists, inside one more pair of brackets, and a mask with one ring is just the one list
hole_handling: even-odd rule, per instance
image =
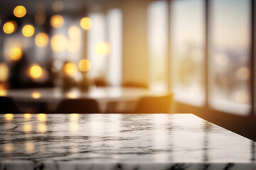
[[170, 113], [173, 94], [140, 98], [134, 113]]

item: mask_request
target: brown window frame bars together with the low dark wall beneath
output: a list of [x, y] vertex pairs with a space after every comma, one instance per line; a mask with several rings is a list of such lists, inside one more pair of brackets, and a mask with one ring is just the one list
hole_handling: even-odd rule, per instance
[[[168, 47], [169, 47], [169, 52], [167, 53], [168, 55], [168, 87], [169, 91], [173, 90], [172, 86], [172, 77], [171, 77], [171, 5], [174, 0], [167, 0], [169, 4], [169, 23], [168, 23]], [[216, 125], [220, 125], [223, 128], [226, 128], [228, 130], [231, 130], [233, 132], [236, 132], [242, 136], [248, 137], [251, 140], [256, 141], [256, 134], [254, 130], [256, 129], [256, 111], [255, 111], [255, 96], [256, 96], [256, 91], [255, 91], [255, 79], [256, 79], [256, 68], [255, 68], [255, 62], [256, 60], [254, 59], [255, 56], [255, 50], [254, 47], [255, 45], [255, 1], [250, 0], [250, 45], [249, 45], [249, 61], [250, 61], [250, 79], [249, 79], [249, 85], [250, 85], [250, 112], [247, 115], [238, 115], [234, 113], [228, 113], [225, 111], [219, 111], [215, 108], [212, 108], [209, 105], [209, 30], [210, 30], [210, 1], [211, 0], [204, 0], [203, 1], [203, 9], [204, 9], [204, 29], [205, 29], [205, 60], [204, 60], [204, 82], [203, 85], [205, 87], [205, 103], [203, 106], [192, 106], [191, 104], [184, 103], [181, 101], [174, 101], [174, 106], [176, 108], [176, 112], [178, 113], [193, 113], [195, 115], [198, 115], [199, 117], [206, 119], [210, 121], [211, 123], [215, 123]]]

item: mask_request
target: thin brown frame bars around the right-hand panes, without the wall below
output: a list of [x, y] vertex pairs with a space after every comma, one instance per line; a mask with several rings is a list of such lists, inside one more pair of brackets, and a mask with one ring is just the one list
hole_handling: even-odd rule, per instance
[[[173, 91], [173, 86], [172, 86], [172, 77], [171, 77], [171, 6], [172, 6], [172, 3], [173, 1], [175, 0], [169, 0], [169, 8], [168, 8], [168, 11], [169, 11], [169, 23], [168, 23], [168, 46], [170, 47], [169, 49], [169, 52], [167, 53], [168, 55], [168, 59], [169, 59], [169, 70], [168, 70], [168, 87], [169, 87], [169, 91]], [[203, 82], [203, 86], [205, 87], [205, 103], [203, 104], [203, 106], [196, 106], [196, 108], [204, 108], [204, 109], [207, 109], [207, 111], [214, 111], [214, 112], [223, 112], [223, 113], [228, 113], [228, 114], [232, 114], [232, 115], [239, 115], [239, 114], [236, 114], [236, 113], [229, 113], [229, 112], [225, 112], [225, 111], [219, 111], [218, 109], [215, 109], [213, 108], [212, 106], [210, 106], [210, 102], [209, 102], [209, 94], [210, 94], [210, 89], [209, 89], [209, 57], [210, 57], [210, 1], [211, 0], [204, 0], [203, 1], [203, 10], [204, 10], [204, 22], [203, 22], [203, 26], [204, 26], [204, 43], [205, 43], [205, 49], [204, 49], [204, 61], [203, 61], [203, 71], [204, 71], [204, 82]], [[255, 55], [255, 51], [254, 51], [254, 46], [255, 46], [255, 21], [254, 21], [254, 17], [255, 17], [255, 13], [254, 13], [254, 8], [255, 8], [255, 2], [253, 0], [250, 0], [250, 4], [251, 4], [251, 8], [250, 8], [250, 11], [251, 13], [249, 14], [250, 15], [250, 46], [249, 46], [249, 51], [250, 51], [250, 55], [249, 55], [249, 60], [250, 60], [250, 79], [249, 79], [249, 82], [250, 82], [250, 94], [251, 94], [251, 101], [250, 101], [250, 105], [251, 105], [251, 111], [250, 113], [247, 113], [246, 115], [244, 116], [251, 116], [251, 115], [254, 115], [254, 111], [255, 111], [255, 106], [254, 106], [254, 103], [255, 103], [255, 97], [256, 96], [256, 93], [254, 91], [254, 84], [255, 84], [255, 71], [254, 70], [254, 65], [255, 65], [255, 60], [254, 60], [254, 55]], [[255, 95], [253, 95], [255, 94]], [[185, 102], [182, 102], [182, 101], [178, 101], [177, 103], [182, 103], [182, 104], [185, 104], [187, 106], [192, 106], [191, 104], [188, 104], [188, 103], [185, 103]]]

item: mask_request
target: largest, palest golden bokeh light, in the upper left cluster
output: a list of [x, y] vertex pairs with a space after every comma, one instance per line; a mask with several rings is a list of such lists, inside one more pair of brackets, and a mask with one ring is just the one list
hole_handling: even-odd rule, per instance
[[64, 35], [54, 35], [50, 40], [50, 45], [55, 52], [63, 52], [66, 50], [68, 45], [68, 40]]

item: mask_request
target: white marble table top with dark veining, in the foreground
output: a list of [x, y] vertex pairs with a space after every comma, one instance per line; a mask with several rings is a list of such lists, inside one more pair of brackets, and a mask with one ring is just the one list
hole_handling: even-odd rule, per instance
[[256, 169], [255, 142], [192, 114], [0, 115], [0, 169]]

